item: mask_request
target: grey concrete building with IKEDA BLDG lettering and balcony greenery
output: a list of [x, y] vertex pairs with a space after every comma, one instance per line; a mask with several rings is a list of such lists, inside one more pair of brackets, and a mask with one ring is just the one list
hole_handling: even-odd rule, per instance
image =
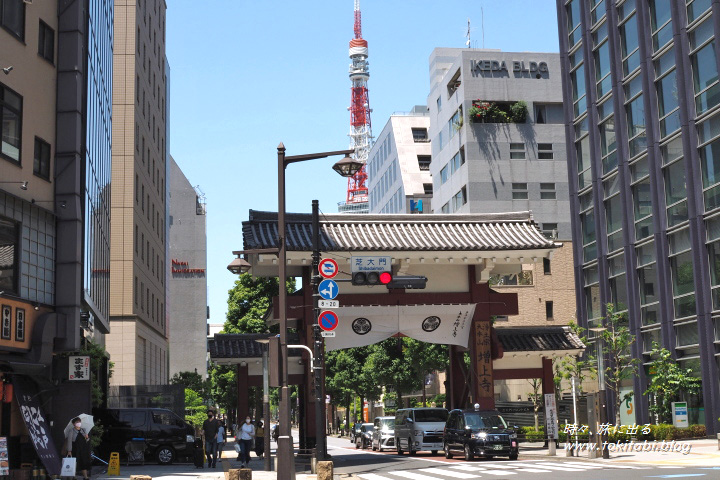
[[[518, 102], [526, 114], [516, 118]], [[543, 231], [570, 239], [557, 54], [436, 48], [428, 107], [435, 213], [530, 210]]]

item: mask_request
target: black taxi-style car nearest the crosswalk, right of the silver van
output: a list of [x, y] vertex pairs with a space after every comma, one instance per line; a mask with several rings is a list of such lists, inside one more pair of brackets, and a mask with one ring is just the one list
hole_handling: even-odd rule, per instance
[[452, 410], [445, 425], [443, 448], [445, 458], [452, 458], [453, 452], [465, 455], [468, 461], [475, 456], [518, 458], [517, 433], [497, 410]]

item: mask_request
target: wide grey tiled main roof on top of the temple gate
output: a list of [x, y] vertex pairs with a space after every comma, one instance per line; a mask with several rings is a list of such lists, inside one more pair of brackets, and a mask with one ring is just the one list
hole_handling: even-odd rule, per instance
[[[312, 250], [310, 214], [288, 214], [288, 250]], [[320, 218], [321, 250], [481, 251], [554, 248], [530, 212], [457, 215], [332, 214]], [[246, 250], [276, 248], [277, 213], [250, 210]]]

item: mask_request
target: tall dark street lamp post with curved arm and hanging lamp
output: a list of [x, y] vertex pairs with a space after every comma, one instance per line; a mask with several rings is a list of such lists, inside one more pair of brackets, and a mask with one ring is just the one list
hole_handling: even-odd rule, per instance
[[[285, 145], [280, 143], [278, 154], [278, 308], [280, 310], [280, 435], [277, 450], [277, 478], [278, 480], [291, 480], [295, 478], [295, 461], [293, 443], [290, 429], [290, 389], [288, 387], [288, 346], [287, 346], [287, 250], [285, 245], [285, 168], [291, 163], [315, 160], [335, 155], [345, 155], [333, 166], [333, 169], [342, 176], [352, 176], [361, 167], [362, 163], [353, 160], [347, 155], [355, 150], [338, 150], [334, 152], [311, 153], [308, 155], [285, 155]], [[316, 272], [313, 272], [315, 274]], [[316, 419], [318, 421], [318, 419]], [[324, 437], [324, 429], [323, 429]], [[317, 439], [316, 439], [317, 441]]]

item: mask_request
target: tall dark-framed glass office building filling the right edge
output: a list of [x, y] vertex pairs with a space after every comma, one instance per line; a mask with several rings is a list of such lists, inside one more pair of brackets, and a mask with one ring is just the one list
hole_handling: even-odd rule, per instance
[[[578, 319], [612, 303], [637, 341], [638, 423], [653, 342], [702, 377], [720, 417], [720, 84], [711, 0], [557, 0]], [[613, 418], [613, 417], [610, 417]]]

